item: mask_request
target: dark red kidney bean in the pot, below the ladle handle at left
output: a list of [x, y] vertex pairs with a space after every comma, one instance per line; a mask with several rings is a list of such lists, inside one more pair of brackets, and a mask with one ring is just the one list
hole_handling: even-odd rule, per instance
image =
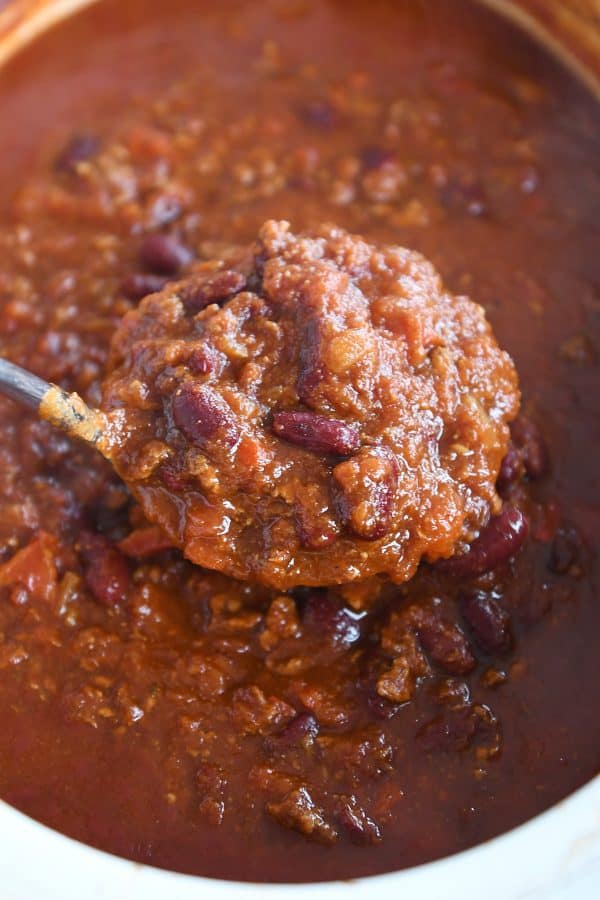
[[84, 579], [91, 593], [104, 606], [124, 603], [130, 589], [125, 557], [100, 534], [84, 532], [79, 540], [84, 561]]

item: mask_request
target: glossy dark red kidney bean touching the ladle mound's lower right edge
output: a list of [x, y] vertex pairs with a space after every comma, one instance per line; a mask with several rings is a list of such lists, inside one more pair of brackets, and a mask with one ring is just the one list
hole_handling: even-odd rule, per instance
[[507, 562], [521, 549], [529, 525], [523, 513], [505, 503], [462, 556], [440, 560], [438, 571], [456, 578], [474, 578]]

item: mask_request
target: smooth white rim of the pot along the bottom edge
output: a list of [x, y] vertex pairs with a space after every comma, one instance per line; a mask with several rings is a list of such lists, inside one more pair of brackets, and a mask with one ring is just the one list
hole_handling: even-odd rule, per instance
[[[593, 873], [600, 879], [600, 776], [551, 809], [453, 856], [385, 875], [256, 884], [182, 875], [130, 862], [65, 837], [0, 802], [3, 900], [347, 900], [547, 898]], [[360, 849], [357, 848], [357, 853]], [[84, 893], [82, 893], [82, 891]], [[575, 896], [575, 894], [572, 894]]]

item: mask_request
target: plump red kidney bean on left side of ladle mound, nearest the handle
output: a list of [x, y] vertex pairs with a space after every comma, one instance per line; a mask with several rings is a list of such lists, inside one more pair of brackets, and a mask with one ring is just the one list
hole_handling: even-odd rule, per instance
[[171, 409], [175, 425], [193, 444], [202, 447], [215, 438], [228, 444], [237, 440], [233, 411], [210, 385], [186, 381], [173, 397]]

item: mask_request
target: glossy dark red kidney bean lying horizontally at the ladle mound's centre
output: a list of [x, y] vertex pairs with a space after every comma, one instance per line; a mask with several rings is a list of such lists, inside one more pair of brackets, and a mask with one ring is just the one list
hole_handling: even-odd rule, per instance
[[290, 444], [315, 453], [348, 456], [360, 446], [356, 428], [313, 412], [277, 412], [273, 414], [273, 431]]

